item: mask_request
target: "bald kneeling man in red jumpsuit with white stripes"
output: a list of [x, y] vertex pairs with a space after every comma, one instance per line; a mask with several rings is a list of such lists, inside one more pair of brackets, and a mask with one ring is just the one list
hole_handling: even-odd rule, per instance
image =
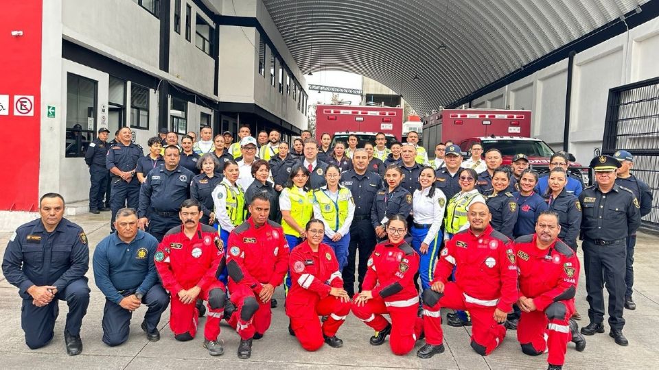
[[[481, 202], [467, 212], [470, 228], [455, 234], [442, 249], [435, 278], [423, 294], [426, 345], [417, 351], [430, 358], [444, 351], [442, 307], [468, 310], [472, 317], [472, 348], [486, 356], [501, 344], [507, 313], [518, 298], [517, 267], [511, 241], [492, 229], [492, 215]], [[448, 277], [456, 267], [455, 282]]]

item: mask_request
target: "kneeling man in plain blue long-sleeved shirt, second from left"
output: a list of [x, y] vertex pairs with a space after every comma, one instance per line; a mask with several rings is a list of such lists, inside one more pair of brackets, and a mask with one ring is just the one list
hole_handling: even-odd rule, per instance
[[158, 240], [138, 230], [137, 212], [132, 208], [117, 212], [115, 230], [98, 243], [93, 258], [94, 280], [106, 299], [103, 343], [113, 347], [128, 339], [132, 312], [141, 304], [148, 306], [142, 330], [149, 341], [157, 342], [160, 317], [170, 304], [153, 260]]

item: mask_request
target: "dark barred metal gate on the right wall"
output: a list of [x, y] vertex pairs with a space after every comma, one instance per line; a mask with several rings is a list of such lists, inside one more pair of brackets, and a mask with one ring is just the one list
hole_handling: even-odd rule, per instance
[[659, 230], [659, 77], [609, 90], [602, 151], [620, 149], [632, 153], [632, 172], [652, 192], [643, 225]]

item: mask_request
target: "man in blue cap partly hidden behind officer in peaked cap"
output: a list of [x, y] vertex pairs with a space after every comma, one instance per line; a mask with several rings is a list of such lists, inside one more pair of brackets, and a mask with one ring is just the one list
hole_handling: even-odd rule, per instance
[[[618, 150], [614, 153], [613, 158], [620, 161], [621, 167], [618, 169], [616, 184], [632, 190], [638, 203], [640, 204], [640, 217], [645, 217], [652, 210], [652, 192], [649, 186], [638, 179], [631, 172], [634, 167], [634, 157], [629, 151]], [[636, 246], [636, 234], [627, 236], [627, 273], [625, 274], [625, 308], [627, 310], [636, 310], [636, 303], [632, 299], [632, 287], [634, 286], [634, 246]]]

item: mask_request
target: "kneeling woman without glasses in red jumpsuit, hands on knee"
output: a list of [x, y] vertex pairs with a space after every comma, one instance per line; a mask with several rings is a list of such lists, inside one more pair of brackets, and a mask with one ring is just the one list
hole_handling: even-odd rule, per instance
[[[286, 296], [286, 314], [300, 345], [316, 351], [323, 341], [338, 348], [343, 341], [336, 331], [350, 312], [350, 296], [343, 290], [334, 249], [323, 241], [323, 221], [312, 219], [305, 227], [307, 240], [290, 252], [291, 286]], [[318, 317], [327, 316], [323, 323]]]

